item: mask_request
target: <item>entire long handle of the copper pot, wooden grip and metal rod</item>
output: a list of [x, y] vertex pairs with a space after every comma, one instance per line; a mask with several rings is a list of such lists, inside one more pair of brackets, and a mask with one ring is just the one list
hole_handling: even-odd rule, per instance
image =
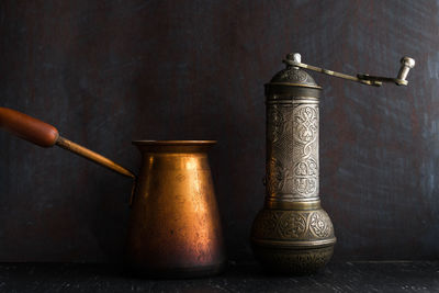
[[106, 167], [120, 174], [135, 179], [135, 174], [114, 161], [59, 136], [58, 129], [37, 119], [0, 106], [0, 128], [41, 147], [57, 145], [64, 149]]

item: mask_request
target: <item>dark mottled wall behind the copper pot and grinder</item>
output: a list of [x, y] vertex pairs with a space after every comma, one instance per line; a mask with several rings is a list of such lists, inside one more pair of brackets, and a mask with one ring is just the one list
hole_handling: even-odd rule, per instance
[[[439, 258], [437, 1], [1, 1], [0, 104], [137, 170], [132, 139], [217, 139], [228, 253], [252, 258], [263, 83], [282, 58], [396, 76], [324, 87], [320, 195], [336, 258]], [[0, 261], [120, 261], [131, 181], [0, 133]]]

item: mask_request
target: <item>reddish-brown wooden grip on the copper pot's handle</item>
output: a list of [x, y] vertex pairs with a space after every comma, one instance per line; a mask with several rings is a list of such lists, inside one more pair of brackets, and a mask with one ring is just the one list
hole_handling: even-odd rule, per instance
[[0, 128], [42, 147], [52, 147], [59, 137], [58, 131], [50, 124], [1, 106]]

